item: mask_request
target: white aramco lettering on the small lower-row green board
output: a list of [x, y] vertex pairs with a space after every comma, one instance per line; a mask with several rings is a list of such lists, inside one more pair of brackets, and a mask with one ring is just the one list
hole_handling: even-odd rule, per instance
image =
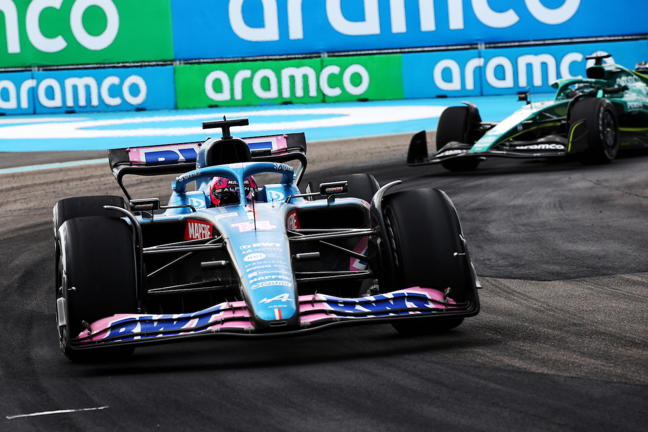
[[[303, 98], [304, 93], [304, 82], [308, 85], [308, 96], [317, 97], [318, 96], [318, 84], [319, 89], [322, 93], [329, 97], [336, 97], [342, 94], [342, 89], [340, 87], [331, 87], [329, 85], [329, 76], [330, 75], [339, 75], [341, 73], [340, 66], [337, 65], [328, 65], [321, 70], [318, 74], [315, 69], [308, 66], [302, 67], [286, 67], [281, 69], [279, 78], [281, 78], [281, 97], [290, 98], [292, 96], [292, 87], [290, 85], [291, 78], [295, 83], [295, 97]], [[354, 74], [360, 76], [360, 83], [354, 85], [351, 82], [351, 77]], [[230, 80], [229, 75], [225, 71], [213, 71], [207, 78], [205, 78], [205, 94], [212, 100], [222, 101], [222, 100], [231, 100], [232, 98], [232, 87], [234, 87], [234, 99], [242, 100], [243, 98], [243, 81], [251, 78], [252, 79], [252, 91], [254, 94], [261, 99], [277, 99], [279, 98], [279, 87], [280, 82], [277, 78], [277, 74], [272, 69], [259, 69], [252, 74], [251, 69], [241, 69], [235, 75], [233, 80]], [[264, 89], [261, 85], [261, 81], [267, 78], [267, 81], [270, 83], [268, 89]], [[220, 81], [222, 86], [221, 91], [214, 90], [214, 82], [216, 80]], [[360, 96], [362, 93], [367, 91], [369, 88], [369, 73], [364, 66], [353, 64], [347, 67], [342, 72], [342, 85], [344, 89], [353, 96]]]

